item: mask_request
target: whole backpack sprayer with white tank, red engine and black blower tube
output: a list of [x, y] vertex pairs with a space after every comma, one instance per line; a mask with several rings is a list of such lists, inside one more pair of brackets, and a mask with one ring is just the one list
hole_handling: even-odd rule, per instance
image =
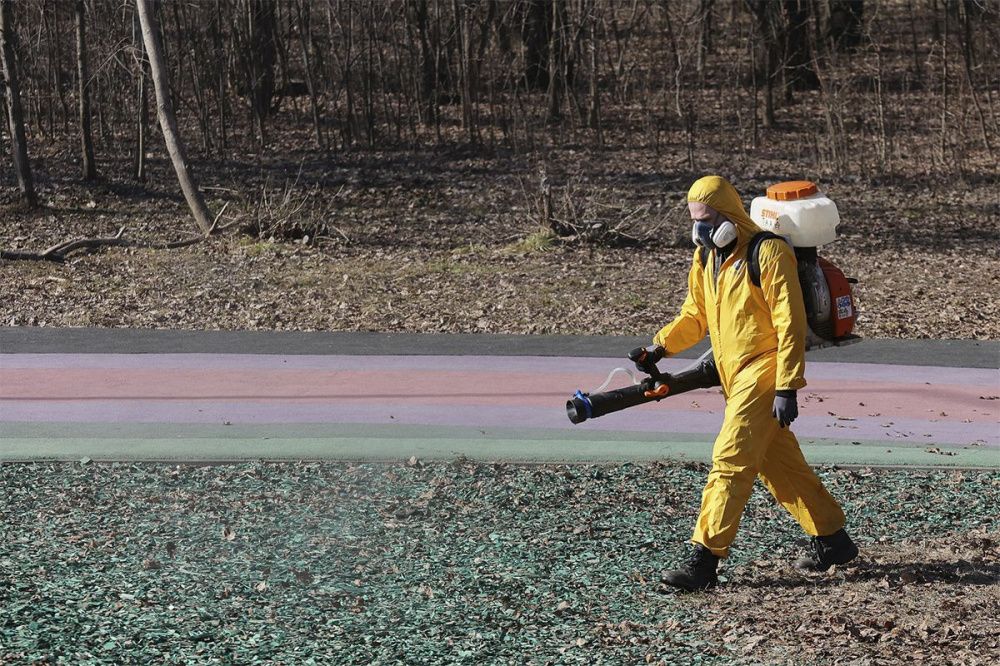
[[[750, 240], [747, 248], [749, 273], [758, 287], [761, 241], [780, 237], [795, 250], [809, 324], [806, 349], [839, 347], [859, 341], [861, 338], [852, 333], [858, 310], [851, 285], [857, 280], [845, 277], [843, 271], [816, 251], [817, 247], [837, 239], [836, 227], [840, 223], [837, 204], [820, 192], [815, 183], [805, 180], [779, 183], [767, 188], [766, 197], [753, 200], [750, 219], [763, 230]], [[707, 252], [701, 256], [702, 265], [706, 256]], [[577, 391], [566, 402], [569, 420], [583, 423], [636, 405], [659, 402], [668, 395], [720, 385], [711, 349], [693, 365], [672, 375], [656, 367], [663, 355], [662, 347], [633, 349], [628, 354], [629, 360], [649, 376], [642, 380], [633, 378], [632, 386], [602, 392], [611, 380], [609, 375], [604, 386], [593, 393]]]

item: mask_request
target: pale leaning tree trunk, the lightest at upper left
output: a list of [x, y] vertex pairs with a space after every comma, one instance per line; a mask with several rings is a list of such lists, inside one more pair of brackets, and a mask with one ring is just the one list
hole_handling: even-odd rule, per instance
[[136, 0], [139, 22], [142, 24], [142, 40], [146, 46], [146, 56], [149, 58], [153, 88], [156, 90], [156, 115], [160, 120], [160, 129], [163, 131], [163, 140], [167, 145], [170, 161], [174, 165], [174, 171], [177, 172], [177, 180], [191, 214], [201, 230], [208, 233], [212, 229], [212, 213], [205, 205], [205, 199], [191, 175], [184, 144], [177, 134], [177, 119], [174, 117], [174, 108], [170, 101], [167, 67], [163, 61], [163, 44], [160, 41], [159, 25], [152, 4], [153, 0]]

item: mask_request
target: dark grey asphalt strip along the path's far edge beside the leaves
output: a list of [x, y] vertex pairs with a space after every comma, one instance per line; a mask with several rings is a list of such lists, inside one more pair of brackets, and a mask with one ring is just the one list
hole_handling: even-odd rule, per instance
[[[650, 336], [652, 332], [650, 332]], [[183, 331], [0, 327], [0, 354], [282, 354], [351, 356], [564, 356], [617, 358], [650, 336]], [[703, 341], [678, 354], [696, 358]], [[1000, 368], [998, 340], [866, 339], [810, 351], [812, 361]]]

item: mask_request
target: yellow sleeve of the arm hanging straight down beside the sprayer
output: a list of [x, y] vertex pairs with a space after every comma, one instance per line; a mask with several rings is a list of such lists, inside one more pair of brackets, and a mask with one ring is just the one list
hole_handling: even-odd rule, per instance
[[760, 288], [771, 309], [771, 324], [778, 335], [778, 368], [775, 388], [798, 390], [806, 385], [806, 309], [792, 248], [783, 241], [760, 245]]

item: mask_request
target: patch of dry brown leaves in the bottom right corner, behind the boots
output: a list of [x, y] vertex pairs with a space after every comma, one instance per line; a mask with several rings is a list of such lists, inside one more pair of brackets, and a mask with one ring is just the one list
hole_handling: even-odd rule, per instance
[[728, 572], [698, 603], [718, 639], [764, 663], [995, 664], [1000, 534], [971, 532], [864, 549], [803, 575], [766, 560]]

